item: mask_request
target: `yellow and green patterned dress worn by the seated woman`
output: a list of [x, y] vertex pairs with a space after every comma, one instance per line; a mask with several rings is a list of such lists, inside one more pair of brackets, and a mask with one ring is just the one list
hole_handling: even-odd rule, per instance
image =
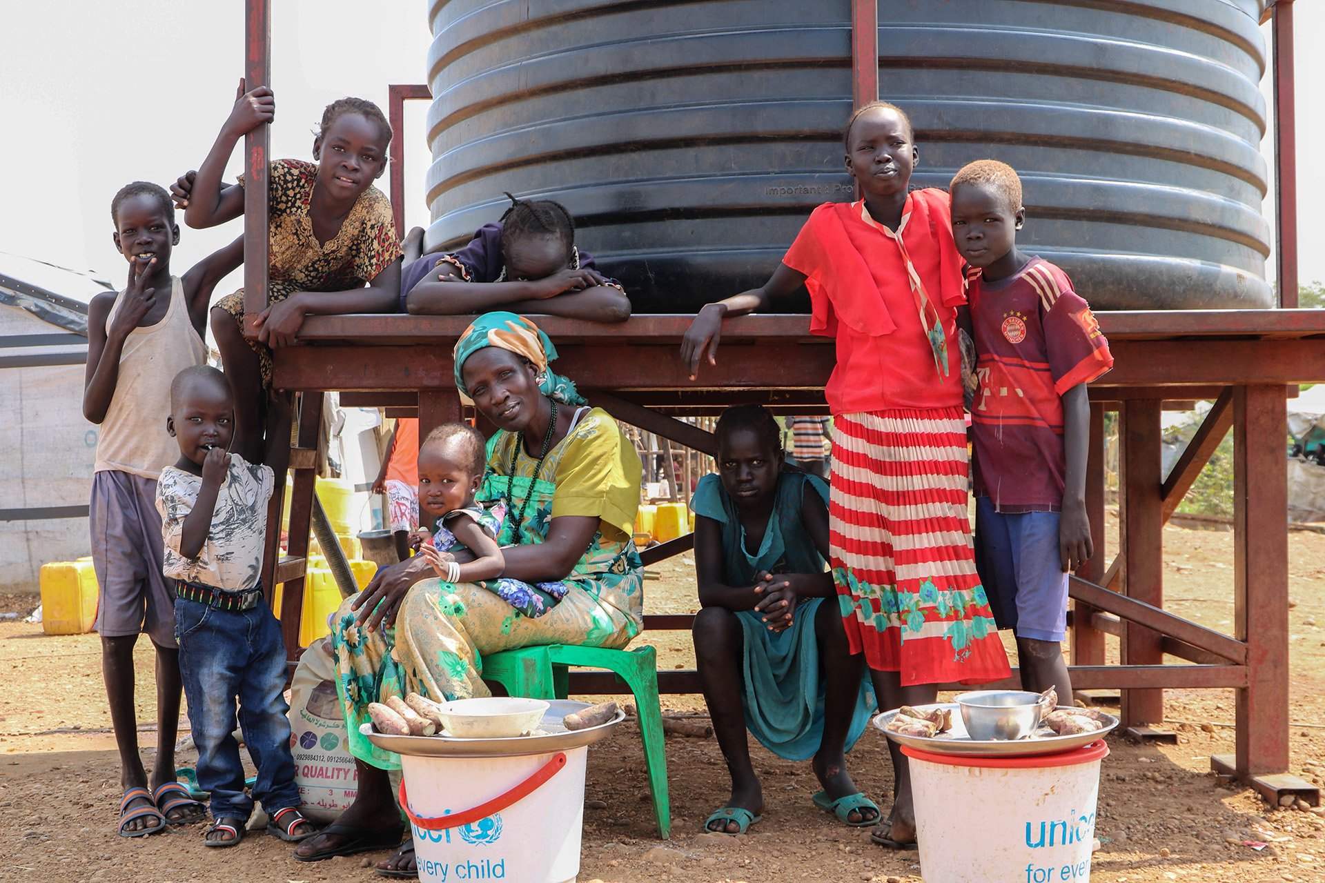
[[[570, 408], [562, 406], [563, 413]], [[383, 769], [399, 757], [359, 733], [370, 702], [408, 692], [436, 699], [489, 695], [485, 654], [550, 643], [624, 647], [644, 618], [644, 568], [632, 532], [640, 499], [640, 459], [607, 412], [580, 408], [571, 430], [537, 461], [519, 450], [514, 433], [498, 432], [488, 443], [488, 474], [478, 502], [514, 500], [529, 507], [519, 535], [507, 512], [498, 543], [542, 543], [554, 518], [595, 516], [599, 530], [563, 580], [570, 590], [542, 616], [527, 617], [494, 590], [439, 579], [417, 582], [401, 601], [392, 629], [366, 631], [346, 601], [337, 612], [333, 647], [337, 691], [350, 732], [350, 751]], [[513, 479], [513, 481], [510, 481]]]

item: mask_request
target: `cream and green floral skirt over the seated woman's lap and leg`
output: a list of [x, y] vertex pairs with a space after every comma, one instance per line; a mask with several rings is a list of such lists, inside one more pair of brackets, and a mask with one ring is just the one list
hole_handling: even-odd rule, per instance
[[[643, 582], [643, 573], [628, 579]], [[368, 703], [417, 692], [436, 702], [488, 696], [484, 654], [549, 643], [619, 649], [639, 630], [616, 608], [599, 601], [579, 581], [559, 604], [527, 617], [489, 589], [429, 579], [416, 584], [391, 629], [364, 631], [346, 600], [333, 620], [331, 646], [337, 692], [350, 736], [350, 752], [380, 769], [398, 769], [400, 757], [359, 733]]]

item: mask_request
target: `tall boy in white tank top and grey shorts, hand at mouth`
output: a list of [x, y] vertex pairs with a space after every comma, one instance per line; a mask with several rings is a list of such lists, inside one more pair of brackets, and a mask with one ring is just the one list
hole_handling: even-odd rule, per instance
[[[110, 213], [115, 248], [130, 269], [123, 291], [99, 294], [87, 306], [83, 416], [101, 425], [89, 527], [101, 593], [95, 627], [125, 789], [118, 830], [122, 837], [142, 837], [205, 815], [203, 805], [175, 784], [179, 647], [174, 593], [162, 577], [156, 477], [179, 457], [166, 434], [171, 380], [203, 364], [212, 289], [242, 262], [244, 244], [236, 240], [176, 278], [170, 256], [179, 226], [163, 188], [127, 184], [115, 193]], [[156, 646], [159, 729], [150, 781], [138, 755], [134, 715], [134, 643], [140, 631]]]

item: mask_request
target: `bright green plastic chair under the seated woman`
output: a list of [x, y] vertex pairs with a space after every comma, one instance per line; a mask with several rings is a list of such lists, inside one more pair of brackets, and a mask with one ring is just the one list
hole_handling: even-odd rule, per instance
[[666, 749], [662, 743], [662, 710], [659, 707], [657, 651], [644, 646], [635, 650], [604, 650], [554, 643], [546, 647], [521, 647], [484, 657], [482, 676], [496, 680], [511, 696], [525, 699], [564, 699], [567, 670], [606, 669], [623, 680], [635, 694], [644, 763], [649, 770], [653, 815], [659, 837], [672, 834], [672, 808], [666, 796]]

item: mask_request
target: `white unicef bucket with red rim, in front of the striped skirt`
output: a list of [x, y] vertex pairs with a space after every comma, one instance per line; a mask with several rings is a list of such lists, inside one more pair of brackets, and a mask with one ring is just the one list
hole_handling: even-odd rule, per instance
[[1102, 740], [1057, 755], [902, 753], [925, 883], [1088, 883]]

